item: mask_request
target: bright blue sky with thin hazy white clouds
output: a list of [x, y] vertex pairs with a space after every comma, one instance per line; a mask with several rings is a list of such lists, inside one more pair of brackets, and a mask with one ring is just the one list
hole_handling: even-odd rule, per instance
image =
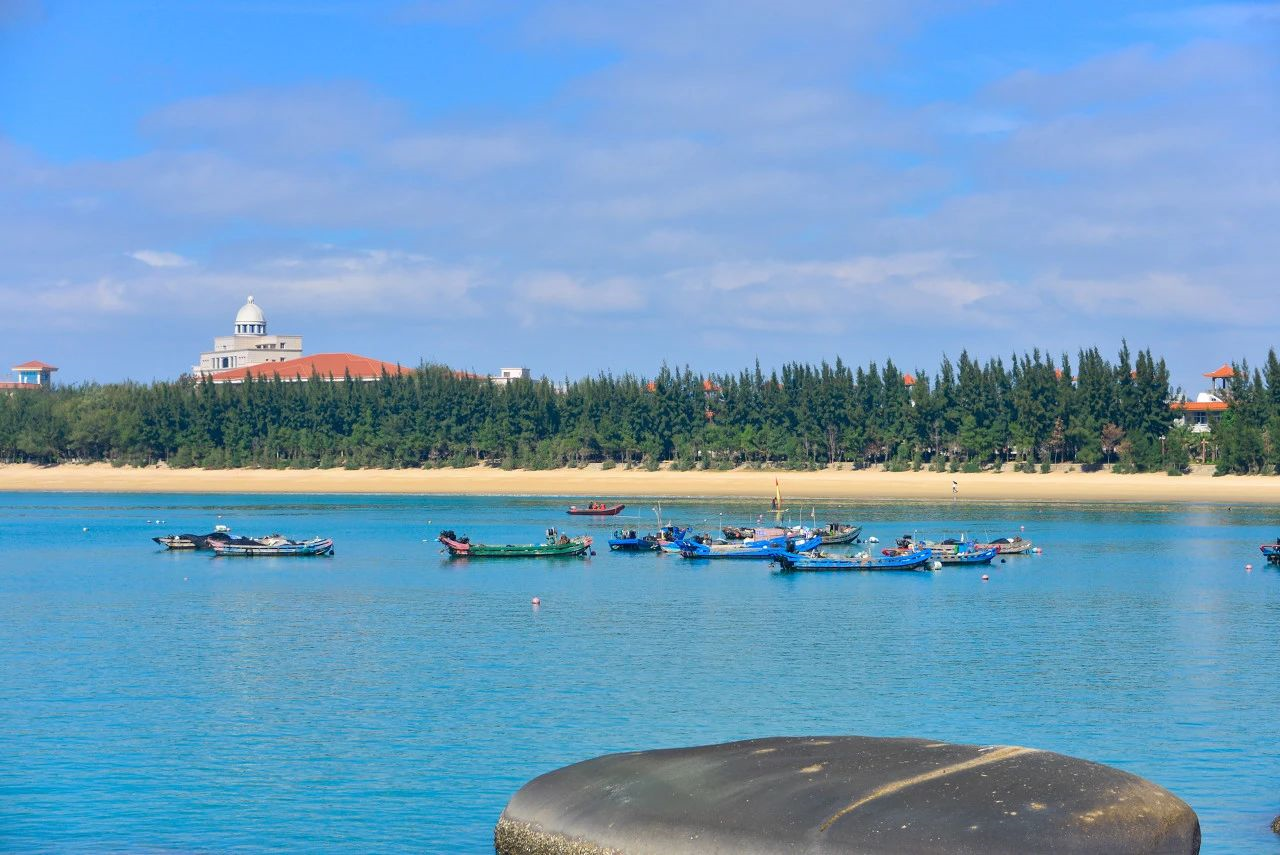
[[0, 0], [0, 361], [1276, 343], [1280, 4]]

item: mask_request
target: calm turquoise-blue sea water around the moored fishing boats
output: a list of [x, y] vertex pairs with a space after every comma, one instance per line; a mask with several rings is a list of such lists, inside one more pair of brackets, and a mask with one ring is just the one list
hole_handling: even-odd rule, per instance
[[[616, 523], [564, 504], [0, 494], [0, 849], [492, 852], [507, 799], [567, 763], [860, 733], [1114, 764], [1190, 803], [1206, 852], [1280, 851], [1275, 509], [828, 503], [819, 521], [886, 544], [1025, 526], [1044, 554], [782, 576], [609, 554]], [[755, 512], [663, 504], [704, 529]], [[216, 522], [337, 555], [148, 540]], [[431, 541], [549, 525], [599, 554], [467, 563]]]

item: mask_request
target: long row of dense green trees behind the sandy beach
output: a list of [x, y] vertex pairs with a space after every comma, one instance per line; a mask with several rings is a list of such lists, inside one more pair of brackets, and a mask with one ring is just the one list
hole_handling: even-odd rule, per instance
[[[914, 380], [914, 383], [909, 383]], [[1183, 471], [1202, 454], [1222, 472], [1280, 466], [1280, 364], [1236, 365], [1230, 410], [1208, 436], [1172, 426], [1165, 361], [1097, 348], [1074, 366], [1034, 351], [932, 375], [892, 361], [850, 367], [759, 364], [737, 375], [663, 367], [559, 388], [493, 385], [444, 366], [379, 381], [279, 379], [236, 385], [87, 384], [0, 396], [0, 461], [166, 462], [175, 467], [730, 468], [829, 463], [977, 471], [1114, 463]]]

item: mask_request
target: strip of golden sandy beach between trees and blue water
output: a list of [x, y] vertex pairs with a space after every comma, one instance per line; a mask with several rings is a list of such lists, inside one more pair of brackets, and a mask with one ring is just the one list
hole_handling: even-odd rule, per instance
[[1103, 502], [1280, 506], [1280, 476], [1225, 475], [1208, 467], [1190, 475], [1115, 475], [1107, 471], [1027, 472], [887, 472], [883, 470], [689, 471], [586, 468], [500, 470], [198, 470], [115, 467], [110, 463], [0, 465], [0, 493], [282, 493], [403, 495], [563, 495], [762, 498], [773, 479], [785, 500], [905, 499], [978, 502]]

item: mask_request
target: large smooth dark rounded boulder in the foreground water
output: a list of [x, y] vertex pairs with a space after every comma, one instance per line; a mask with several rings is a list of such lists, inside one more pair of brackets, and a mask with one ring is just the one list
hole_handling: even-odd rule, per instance
[[780, 737], [611, 754], [526, 783], [499, 855], [1198, 852], [1199, 820], [1110, 767], [1007, 746]]

